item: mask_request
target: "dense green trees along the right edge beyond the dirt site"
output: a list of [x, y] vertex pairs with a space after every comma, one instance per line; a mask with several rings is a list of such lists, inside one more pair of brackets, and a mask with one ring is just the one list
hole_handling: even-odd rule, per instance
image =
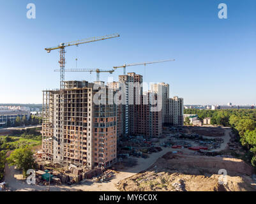
[[186, 114], [197, 114], [199, 119], [211, 117], [211, 124], [230, 126], [237, 140], [246, 147], [251, 163], [256, 167], [256, 110], [196, 110], [186, 109]]

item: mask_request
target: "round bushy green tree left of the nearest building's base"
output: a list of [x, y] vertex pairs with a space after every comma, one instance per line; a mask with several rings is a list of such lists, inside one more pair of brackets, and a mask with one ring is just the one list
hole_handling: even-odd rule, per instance
[[24, 176], [26, 176], [27, 170], [35, 167], [33, 152], [27, 147], [16, 149], [11, 153], [10, 157], [7, 158], [7, 162], [9, 166], [15, 165], [17, 168], [21, 169]]

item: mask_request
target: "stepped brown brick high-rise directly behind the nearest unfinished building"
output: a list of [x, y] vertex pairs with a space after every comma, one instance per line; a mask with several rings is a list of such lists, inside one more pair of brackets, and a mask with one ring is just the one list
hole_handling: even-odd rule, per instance
[[108, 84], [113, 89], [123, 91], [125, 98], [124, 105], [119, 108], [121, 111], [117, 111], [118, 114], [122, 114], [121, 117], [117, 116], [117, 119], [123, 119], [121, 122], [117, 120], [117, 126], [123, 127], [123, 133], [126, 133], [123, 135], [160, 136], [162, 135], [162, 115], [160, 115], [162, 111], [151, 112], [152, 105], [149, 103], [150, 97], [157, 100], [157, 94], [153, 92], [143, 94], [142, 82], [142, 75], [132, 72], [119, 75], [119, 82]]

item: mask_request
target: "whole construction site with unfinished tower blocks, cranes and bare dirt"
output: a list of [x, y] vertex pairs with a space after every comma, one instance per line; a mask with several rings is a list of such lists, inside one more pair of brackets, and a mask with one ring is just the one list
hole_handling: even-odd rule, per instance
[[[9, 189], [255, 191], [252, 168], [234, 156], [243, 151], [230, 128], [183, 126], [183, 98], [170, 98], [169, 84], [153, 84], [145, 92], [142, 75], [126, 74], [126, 67], [174, 60], [109, 70], [65, 69], [66, 47], [117, 37], [45, 48], [49, 53], [59, 50], [60, 69], [55, 71], [60, 73], [60, 87], [43, 91], [42, 145], [34, 154], [36, 185], [27, 186], [19, 170], [6, 166]], [[119, 82], [100, 81], [100, 73], [113, 74], [117, 68], [123, 68]], [[65, 71], [95, 72], [96, 81], [66, 81]], [[120, 91], [124, 94], [117, 98], [123, 103], [116, 104], [113, 96]], [[157, 103], [148, 103], [150, 99]], [[160, 110], [151, 111], [159, 104]], [[224, 185], [219, 182], [222, 169], [229, 180]]]

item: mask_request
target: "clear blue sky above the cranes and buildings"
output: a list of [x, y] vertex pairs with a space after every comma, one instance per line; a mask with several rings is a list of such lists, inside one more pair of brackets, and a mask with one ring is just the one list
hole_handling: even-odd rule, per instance
[[[26, 18], [28, 3], [36, 4], [34, 20]], [[228, 19], [218, 18], [220, 3]], [[77, 68], [102, 69], [176, 59], [127, 71], [169, 83], [170, 96], [185, 104], [256, 103], [255, 0], [1, 0], [0, 19], [0, 103], [41, 103], [43, 89], [59, 87], [59, 54], [45, 47], [112, 33], [121, 37], [67, 48], [66, 68], [76, 57]], [[66, 80], [96, 74], [66, 73]]]

